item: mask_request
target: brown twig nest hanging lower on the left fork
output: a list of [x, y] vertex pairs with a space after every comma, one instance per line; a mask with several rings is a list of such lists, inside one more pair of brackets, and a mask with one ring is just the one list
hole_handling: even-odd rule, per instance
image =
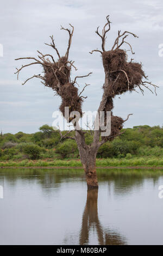
[[[71, 83], [66, 83], [61, 87], [61, 105], [59, 107], [61, 113], [65, 117], [65, 107], [69, 107], [69, 113], [72, 111], [78, 111], [80, 117], [82, 117], [82, 98], [78, 96], [78, 88], [74, 87]], [[74, 117], [76, 117], [74, 115]], [[69, 123], [74, 118], [69, 118]]]

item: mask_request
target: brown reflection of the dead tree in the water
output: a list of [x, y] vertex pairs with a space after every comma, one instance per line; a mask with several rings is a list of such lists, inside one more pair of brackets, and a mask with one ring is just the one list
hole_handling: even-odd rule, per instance
[[87, 190], [86, 205], [83, 212], [82, 228], [80, 230], [79, 244], [89, 244], [90, 231], [96, 230], [99, 245], [124, 245], [124, 236], [111, 230], [104, 230], [98, 218], [98, 189]]

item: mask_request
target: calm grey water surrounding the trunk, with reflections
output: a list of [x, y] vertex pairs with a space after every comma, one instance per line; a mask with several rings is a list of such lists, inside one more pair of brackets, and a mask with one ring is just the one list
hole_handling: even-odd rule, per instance
[[97, 172], [0, 169], [0, 244], [163, 245], [163, 170]]

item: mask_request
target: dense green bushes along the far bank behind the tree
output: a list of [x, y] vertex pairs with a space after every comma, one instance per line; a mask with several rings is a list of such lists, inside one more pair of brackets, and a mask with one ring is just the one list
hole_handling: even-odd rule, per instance
[[[66, 131], [65, 131], [66, 132]], [[64, 132], [63, 132], [64, 134]], [[86, 133], [86, 143], [92, 141], [91, 131]], [[120, 137], [107, 142], [98, 150], [97, 158], [107, 159], [103, 166], [117, 164], [129, 159], [143, 161], [142, 157], [163, 157], [163, 127], [148, 125], [128, 128]], [[43, 125], [39, 132], [32, 134], [17, 132], [15, 135], [5, 133], [0, 136], [0, 161], [58, 161], [60, 159], [79, 159], [77, 144], [71, 139], [60, 141], [60, 135], [51, 126]], [[109, 160], [112, 159], [112, 160]], [[97, 166], [98, 166], [97, 160]], [[65, 162], [65, 161], [64, 161]], [[56, 162], [57, 163], [57, 162]], [[139, 165], [139, 163], [137, 163]], [[39, 164], [40, 165], [40, 164]], [[45, 164], [42, 163], [43, 166]], [[54, 164], [55, 165], [55, 164]], [[65, 164], [66, 165], [66, 164]], [[130, 164], [129, 164], [130, 165]], [[80, 162], [78, 164], [80, 166]]]

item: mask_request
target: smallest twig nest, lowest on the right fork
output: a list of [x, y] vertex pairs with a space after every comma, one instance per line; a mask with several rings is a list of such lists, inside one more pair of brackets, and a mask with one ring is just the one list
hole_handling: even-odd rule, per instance
[[[106, 137], [108, 141], [113, 141], [114, 137], [112, 136], [118, 135], [118, 133], [120, 133], [122, 128], [123, 128], [123, 119], [121, 117], [111, 115], [111, 133], [109, 136]], [[109, 138], [109, 137], [112, 137], [112, 138]]]

